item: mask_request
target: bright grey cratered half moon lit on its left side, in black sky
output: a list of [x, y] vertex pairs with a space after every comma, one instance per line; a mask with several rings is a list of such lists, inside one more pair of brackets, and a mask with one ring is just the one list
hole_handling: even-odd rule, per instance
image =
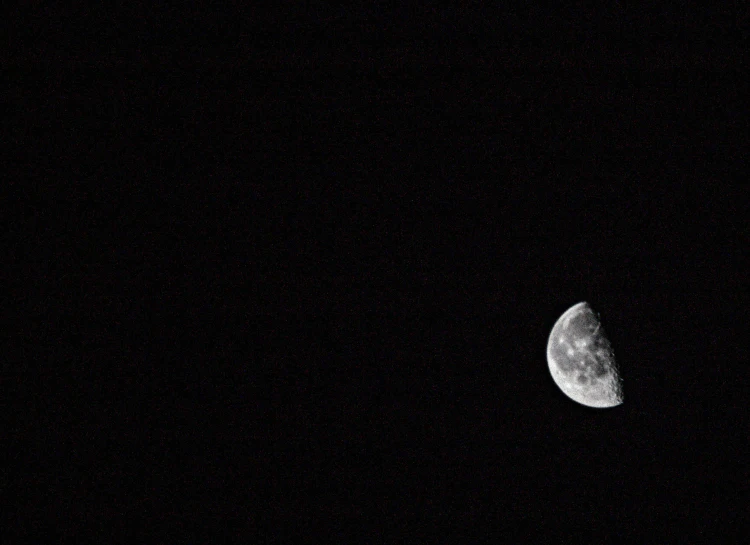
[[547, 363], [555, 384], [573, 401], [600, 409], [623, 403], [614, 352], [588, 303], [573, 305], [557, 320], [547, 342]]

